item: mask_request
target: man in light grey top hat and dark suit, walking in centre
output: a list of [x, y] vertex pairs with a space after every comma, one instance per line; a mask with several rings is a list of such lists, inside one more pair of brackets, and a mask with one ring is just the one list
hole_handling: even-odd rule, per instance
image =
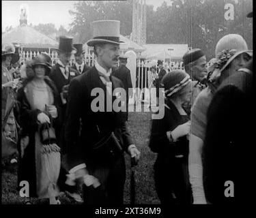
[[122, 81], [111, 75], [119, 58], [120, 22], [98, 20], [92, 25], [94, 38], [87, 45], [94, 46], [96, 62], [70, 82], [65, 131], [68, 179], [84, 184], [85, 204], [123, 204], [124, 151], [136, 162], [140, 152], [128, 133], [125, 112], [112, 108], [118, 98], [113, 90], [124, 89]]

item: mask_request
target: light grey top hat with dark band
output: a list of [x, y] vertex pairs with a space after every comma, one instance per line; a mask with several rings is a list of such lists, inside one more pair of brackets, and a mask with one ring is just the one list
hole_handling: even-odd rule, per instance
[[93, 39], [87, 42], [88, 46], [100, 43], [120, 44], [119, 20], [96, 20], [91, 23], [94, 29]]

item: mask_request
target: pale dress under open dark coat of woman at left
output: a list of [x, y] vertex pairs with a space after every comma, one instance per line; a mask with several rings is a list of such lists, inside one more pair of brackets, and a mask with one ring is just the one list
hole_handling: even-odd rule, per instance
[[[27, 84], [24, 91], [31, 110], [38, 109], [44, 112], [46, 105], [53, 105], [53, 92], [46, 82], [37, 84], [32, 80]], [[38, 131], [35, 132], [35, 167], [38, 198], [50, 198], [51, 200], [59, 195], [59, 188], [57, 187], [60, 170], [59, 150], [56, 144], [42, 144], [38, 128]]]

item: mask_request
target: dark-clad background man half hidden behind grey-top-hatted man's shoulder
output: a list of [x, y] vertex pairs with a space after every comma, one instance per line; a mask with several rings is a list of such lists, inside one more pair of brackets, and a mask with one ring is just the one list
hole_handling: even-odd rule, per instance
[[[130, 76], [130, 69], [126, 67], [128, 57], [125, 55], [119, 56], [119, 67], [113, 72], [113, 76], [119, 78], [124, 84], [126, 90], [126, 121], [128, 121], [128, 103], [129, 98], [132, 97], [132, 78]], [[130, 89], [130, 91], [129, 91]]]

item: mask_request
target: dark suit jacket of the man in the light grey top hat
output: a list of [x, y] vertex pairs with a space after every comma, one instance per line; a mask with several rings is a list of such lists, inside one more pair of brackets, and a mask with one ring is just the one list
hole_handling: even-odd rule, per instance
[[[114, 76], [110, 78], [113, 90], [124, 88], [119, 79]], [[91, 110], [91, 102], [96, 98], [96, 96], [91, 96], [91, 90], [94, 88], [101, 88], [104, 91], [104, 112]], [[114, 99], [115, 96], [113, 96]], [[127, 151], [128, 146], [133, 144], [126, 129], [125, 112], [106, 112], [106, 86], [100, 80], [96, 67], [92, 67], [85, 74], [77, 76], [70, 82], [65, 131], [69, 168], [81, 163], [86, 164], [90, 159], [92, 146], [110, 131], [115, 133], [124, 151]], [[100, 159], [93, 161], [98, 162]]]

